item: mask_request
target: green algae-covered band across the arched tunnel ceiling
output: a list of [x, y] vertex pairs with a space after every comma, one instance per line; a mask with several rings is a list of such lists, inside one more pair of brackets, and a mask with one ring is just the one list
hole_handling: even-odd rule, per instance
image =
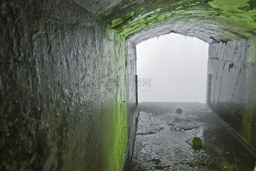
[[[189, 20], [196, 21], [198, 19], [199, 24], [201, 24], [200, 21], [202, 20], [208, 21], [204, 26], [205, 30], [214, 30], [216, 33], [221, 32], [224, 36], [221, 39], [223, 41], [244, 39], [255, 37], [256, 8], [254, 5], [244, 0], [214, 0], [208, 3], [203, 1], [181, 1], [166, 7], [157, 6], [158, 8], [155, 10], [150, 8], [152, 9], [150, 12], [149, 10], [144, 10], [144, 8], [137, 9], [128, 13], [124, 18], [114, 19], [111, 28], [121, 36], [129, 38], [135, 33], [149, 30], [158, 24], [161, 26], [166, 26], [166, 23], [175, 25], [179, 24], [179, 22], [182, 24]], [[208, 25], [208, 23], [219, 24], [219, 27]], [[173, 30], [172, 32], [175, 31], [179, 32], [179, 30]], [[209, 36], [209, 38], [214, 41], [220, 41], [214, 35]]]

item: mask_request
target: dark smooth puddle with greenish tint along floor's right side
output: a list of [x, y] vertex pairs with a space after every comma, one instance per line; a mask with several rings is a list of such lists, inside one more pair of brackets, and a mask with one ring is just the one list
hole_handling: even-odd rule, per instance
[[252, 155], [234, 136], [225, 130], [205, 130], [203, 132], [207, 148], [218, 170], [252, 171], [255, 156]]

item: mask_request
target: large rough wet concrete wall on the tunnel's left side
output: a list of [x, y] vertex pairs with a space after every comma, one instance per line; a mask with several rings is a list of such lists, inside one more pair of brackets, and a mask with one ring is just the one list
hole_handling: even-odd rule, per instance
[[75, 1], [0, 6], [0, 170], [121, 170], [135, 46]]

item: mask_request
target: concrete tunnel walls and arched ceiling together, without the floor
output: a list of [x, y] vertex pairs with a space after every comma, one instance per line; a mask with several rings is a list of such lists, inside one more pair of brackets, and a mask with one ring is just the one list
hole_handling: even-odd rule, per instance
[[0, 3], [0, 170], [122, 170], [136, 94], [120, 83], [136, 44], [171, 32], [210, 44], [207, 104], [256, 149], [255, 0]]

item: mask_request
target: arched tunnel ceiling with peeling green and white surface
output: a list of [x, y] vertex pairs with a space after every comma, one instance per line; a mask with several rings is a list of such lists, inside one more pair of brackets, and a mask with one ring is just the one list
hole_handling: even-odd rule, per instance
[[132, 43], [171, 32], [212, 42], [256, 37], [256, 0], [76, 0]]

